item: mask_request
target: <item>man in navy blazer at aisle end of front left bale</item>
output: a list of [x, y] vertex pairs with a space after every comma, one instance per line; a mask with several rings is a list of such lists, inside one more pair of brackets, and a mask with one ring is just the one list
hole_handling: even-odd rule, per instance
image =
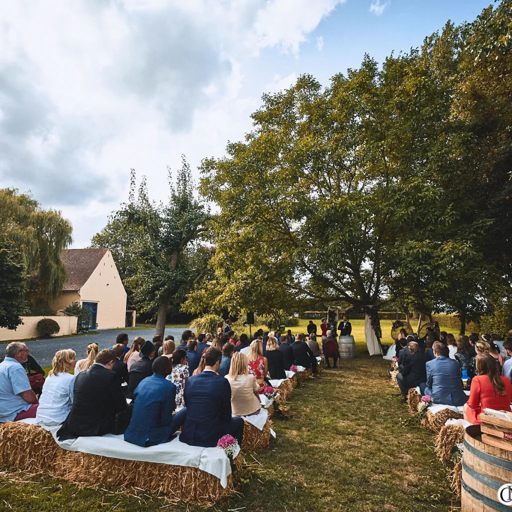
[[217, 441], [231, 434], [242, 445], [244, 420], [231, 417], [231, 386], [217, 375], [222, 352], [211, 348], [205, 355], [203, 372], [189, 377], [183, 392], [186, 417], [180, 441], [193, 446], [217, 446]]

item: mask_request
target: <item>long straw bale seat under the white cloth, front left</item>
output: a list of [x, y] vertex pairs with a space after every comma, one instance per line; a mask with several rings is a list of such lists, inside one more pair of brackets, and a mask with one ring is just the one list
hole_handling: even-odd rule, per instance
[[[240, 454], [233, 462], [241, 467], [243, 456]], [[234, 493], [231, 475], [224, 488], [217, 477], [198, 467], [71, 452], [62, 449], [42, 427], [12, 421], [0, 423], [0, 464], [42, 471], [80, 486], [109, 485], [116, 491], [127, 488], [135, 492], [142, 488], [166, 499], [205, 506]]]

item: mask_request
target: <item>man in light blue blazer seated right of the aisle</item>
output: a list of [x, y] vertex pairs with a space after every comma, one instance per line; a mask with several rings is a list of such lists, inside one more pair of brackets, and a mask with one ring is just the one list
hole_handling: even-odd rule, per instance
[[420, 385], [423, 395], [430, 395], [434, 403], [445, 406], [463, 406], [467, 396], [462, 389], [459, 361], [450, 359], [448, 347], [435, 342], [435, 358], [426, 363], [426, 383]]

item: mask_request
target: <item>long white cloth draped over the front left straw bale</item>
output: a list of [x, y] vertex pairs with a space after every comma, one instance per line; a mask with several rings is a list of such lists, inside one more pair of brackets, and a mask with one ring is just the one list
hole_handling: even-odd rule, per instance
[[[266, 411], [265, 414], [267, 414]], [[45, 425], [33, 418], [21, 421], [31, 425], [40, 425], [48, 430], [55, 442], [64, 450], [102, 455], [103, 457], [114, 459], [197, 467], [201, 471], [217, 477], [224, 488], [227, 486], [227, 477], [231, 474], [231, 464], [224, 450], [217, 447], [203, 448], [201, 446], [190, 446], [189, 444], [182, 443], [178, 437], [166, 443], [148, 446], [147, 448], [129, 443], [123, 439], [122, 435], [115, 436], [114, 434], [78, 437], [76, 439], [59, 441], [57, 440], [56, 433], [60, 429], [60, 425]], [[238, 453], [235, 457], [237, 455]]]

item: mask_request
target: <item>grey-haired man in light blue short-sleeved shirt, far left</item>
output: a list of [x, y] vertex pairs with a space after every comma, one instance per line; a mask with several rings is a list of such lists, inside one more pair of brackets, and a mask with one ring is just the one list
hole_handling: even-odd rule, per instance
[[0, 362], [0, 422], [35, 418], [39, 400], [30, 387], [23, 363], [29, 350], [24, 343], [12, 342]]

